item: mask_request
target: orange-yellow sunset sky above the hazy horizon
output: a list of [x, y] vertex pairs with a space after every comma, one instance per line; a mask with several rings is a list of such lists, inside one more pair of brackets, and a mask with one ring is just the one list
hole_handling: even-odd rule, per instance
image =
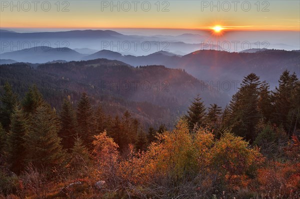
[[300, 31], [299, 0], [0, 0], [2, 29]]

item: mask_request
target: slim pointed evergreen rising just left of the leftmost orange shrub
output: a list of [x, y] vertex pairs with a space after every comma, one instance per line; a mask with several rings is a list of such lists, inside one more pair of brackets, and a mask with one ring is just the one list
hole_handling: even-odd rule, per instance
[[77, 104], [77, 124], [78, 136], [82, 139], [83, 144], [90, 148], [92, 142], [93, 132], [93, 111], [89, 99], [85, 92], [82, 93], [80, 100]]

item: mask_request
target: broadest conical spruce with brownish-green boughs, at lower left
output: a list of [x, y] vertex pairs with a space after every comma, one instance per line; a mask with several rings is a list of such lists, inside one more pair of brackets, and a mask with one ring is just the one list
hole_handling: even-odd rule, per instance
[[24, 136], [26, 162], [49, 168], [62, 162], [63, 151], [58, 137], [58, 118], [49, 106], [39, 106], [32, 115], [30, 130]]

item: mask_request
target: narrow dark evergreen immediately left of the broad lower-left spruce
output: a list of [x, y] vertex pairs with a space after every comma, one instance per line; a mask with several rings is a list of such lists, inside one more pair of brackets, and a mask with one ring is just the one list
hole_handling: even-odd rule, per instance
[[23, 137], [28, 132], [28, 121], [22, 110], [15, 106], [11, 114], [10, 131], [7, 134], [6, 152], [7, 160], [11, 165], [11, 171], [19, 173], [24, 161], [24, 140]]

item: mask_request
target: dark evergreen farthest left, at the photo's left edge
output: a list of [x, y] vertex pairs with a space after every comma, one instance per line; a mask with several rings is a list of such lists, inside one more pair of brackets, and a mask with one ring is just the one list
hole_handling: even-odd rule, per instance
[[3, 86], [3, 94], [1, 95], [0, 121], [2, 127], [8, 132], [10, 125], [10, 116], [14, 106], [17, 103], [17, 96], [12, 92], [10, 84], [6, 81]]

